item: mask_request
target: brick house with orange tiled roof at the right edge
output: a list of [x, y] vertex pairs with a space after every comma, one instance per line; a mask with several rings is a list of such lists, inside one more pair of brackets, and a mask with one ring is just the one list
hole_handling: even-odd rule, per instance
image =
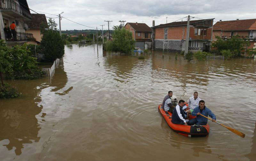
[[220, 20], [213, 25], [213, 40], [217, 40], [215, 36], [228, 39], [235, 35], [239, 35], [244, 40], [250, 40], [247, 49], [256, 48], [256, 19]]

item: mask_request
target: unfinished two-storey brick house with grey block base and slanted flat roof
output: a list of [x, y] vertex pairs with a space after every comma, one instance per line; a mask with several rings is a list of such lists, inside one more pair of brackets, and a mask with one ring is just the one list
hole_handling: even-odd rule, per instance
[[[188, 51], [209, 51], [212, 41], [213, 19], [189, 21]], [[185, 50], [187, 21], [172, 22], [154, 26], [152, 50], [181, 52]]]

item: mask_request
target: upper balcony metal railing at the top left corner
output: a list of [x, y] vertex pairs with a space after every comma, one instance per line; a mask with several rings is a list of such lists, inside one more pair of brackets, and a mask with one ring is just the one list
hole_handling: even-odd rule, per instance
[[26, 18], [31, 19], [31, 14], [27, 10], [25, 10], [23, 7], [21, 7], [19, 3], [15, 2], [13, 0], [1, 0], [0, 8], [15, 11], [15, 12], [25, 16]]

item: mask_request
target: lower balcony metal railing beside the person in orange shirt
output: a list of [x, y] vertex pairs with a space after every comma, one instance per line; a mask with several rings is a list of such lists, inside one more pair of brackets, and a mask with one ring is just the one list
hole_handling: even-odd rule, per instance
[[25, 41], [25, 40], [33, 40], [33, 34], [32, 33], [22, 33], [22, 32], [16, 32], [14, 33], [5, 33], [5, 40], [6, 41]]

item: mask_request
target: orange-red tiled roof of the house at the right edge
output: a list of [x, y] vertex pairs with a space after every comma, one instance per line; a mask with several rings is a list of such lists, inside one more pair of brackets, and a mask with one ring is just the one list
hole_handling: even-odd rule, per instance
[[233, 21], [219, 21], [213, 25], [213, 31], [243, 31], [256, 30], [256, 19], [241, 19]]

